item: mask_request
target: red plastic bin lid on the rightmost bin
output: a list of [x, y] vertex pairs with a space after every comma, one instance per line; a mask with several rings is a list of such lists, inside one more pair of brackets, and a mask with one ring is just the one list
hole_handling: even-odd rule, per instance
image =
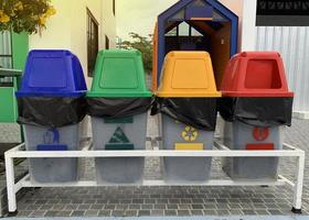
[[224, 97], [294, 97], [283, 59], [276, 52], [243, 52], [233, 56], [221, 91]]

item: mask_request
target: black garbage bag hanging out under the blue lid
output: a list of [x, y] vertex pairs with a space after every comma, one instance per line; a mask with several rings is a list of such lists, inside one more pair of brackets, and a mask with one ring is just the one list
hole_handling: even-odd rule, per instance
[[20, 124], [61, 128], [79, 123], [86, 116], [84, 97], [18, 98]]

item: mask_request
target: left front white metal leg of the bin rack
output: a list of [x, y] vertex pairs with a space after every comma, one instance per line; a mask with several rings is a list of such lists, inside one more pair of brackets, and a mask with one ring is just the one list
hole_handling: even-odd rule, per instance
[[6, 154], [6, 174], [9, 212], [17, 211], [14, 160]]

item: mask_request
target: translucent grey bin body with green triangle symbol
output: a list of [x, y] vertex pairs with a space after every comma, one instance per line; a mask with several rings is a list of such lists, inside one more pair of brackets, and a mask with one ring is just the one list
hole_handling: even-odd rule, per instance
[[[94, 150], [145, 150], [147, 113], [120, 120], [92, 118]], [[98, 184], [140, 184], [143, 157], [96, 158]]]

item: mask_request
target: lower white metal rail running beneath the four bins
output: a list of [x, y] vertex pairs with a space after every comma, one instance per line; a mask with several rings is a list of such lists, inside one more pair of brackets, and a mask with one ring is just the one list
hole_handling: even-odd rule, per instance
[[[139, 186], [283, 186], [285, 185], [285, 180], [278, 179], [277, 182], [233, 182], [230, 179], [211, 179], [204, 183], [196, 183], [196, 184], [185, 184], [185, 183], [167, 183], [161, 179], [154, 180], [143, 180]], [[23, 180], [22, 187], [97, 187], [97, 186], [137, 186], [136, 184], [132, 185], [104, 185], [98, 184], [96, 180], [81, 180], [76, 183], [60, 183], [60, 184], [39, 184], [32, 183], [30, 180]]]

